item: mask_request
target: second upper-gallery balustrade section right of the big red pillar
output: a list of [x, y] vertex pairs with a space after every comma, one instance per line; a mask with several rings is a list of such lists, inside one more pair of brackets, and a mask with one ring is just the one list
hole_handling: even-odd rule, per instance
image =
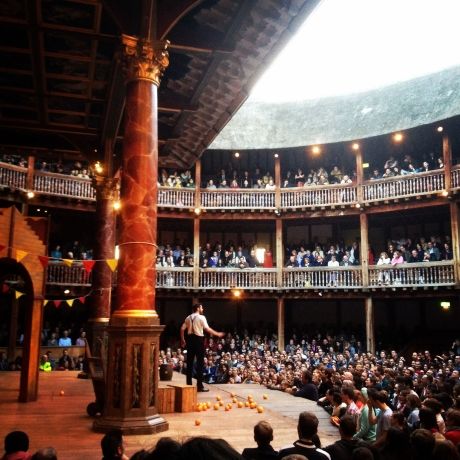
[[204, 209], [275, 209], [274, 190], [201, 190], [200, 200]]

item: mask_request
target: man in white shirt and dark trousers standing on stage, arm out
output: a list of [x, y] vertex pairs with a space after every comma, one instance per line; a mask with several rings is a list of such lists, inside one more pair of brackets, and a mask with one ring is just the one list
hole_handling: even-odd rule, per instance
[[[187, 339], [185, 339], [187, 330]], [[224, 332], [217, 332], [210, 328], [206, 317], [203, 315], [203, 305], [193, 305], [193, 313], [185, 318], [180, 328], [181, 346], [187, 347], [187, 385], [192, 385], [193, 362], [196, 357], [196, 380], [198, 391], [209, 391], [203, 386], [204, 366], [204, 332], [216, 337], [224, 337]]]

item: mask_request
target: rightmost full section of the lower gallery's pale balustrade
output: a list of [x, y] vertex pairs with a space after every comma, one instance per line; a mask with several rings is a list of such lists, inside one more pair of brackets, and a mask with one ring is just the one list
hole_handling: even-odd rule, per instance
[[449, 286], [455, 284], [454, 262], [373, 265], [369, 267], [369, 287]]

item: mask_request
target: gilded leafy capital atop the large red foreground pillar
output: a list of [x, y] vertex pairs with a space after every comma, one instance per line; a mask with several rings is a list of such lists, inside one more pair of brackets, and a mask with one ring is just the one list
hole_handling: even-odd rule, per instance
[[147, 40], [123, 34], [123, 70], [126, 82], [147, 80], [160, 86], [160, 78], [169, 65], [169, 41], [157, 42], [156, 47]]

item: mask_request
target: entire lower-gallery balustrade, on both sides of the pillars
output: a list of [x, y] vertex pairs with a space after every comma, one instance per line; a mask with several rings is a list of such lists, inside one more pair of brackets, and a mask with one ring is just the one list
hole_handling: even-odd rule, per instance
[[[281, 286], [277, 285], [276, 268], [200, 269], [198, 286], [193, 284], [193, 268], [161, 267], [156, 271], [158, 289], [308, 291], [365, 288], [360, 266], [282, 268]], [[115, 279], [116, 276], [114, 282]], [[78, 262], [71, 267], [63, 262], [52, 262], [47, 268], [46, 283], [50, 286], [91, 286], [91, 274]], [[396, 267], [373, 265], [369, 268], [369, 288], [437, 288], [454, 285], [454, 261], [402, 264]]]

